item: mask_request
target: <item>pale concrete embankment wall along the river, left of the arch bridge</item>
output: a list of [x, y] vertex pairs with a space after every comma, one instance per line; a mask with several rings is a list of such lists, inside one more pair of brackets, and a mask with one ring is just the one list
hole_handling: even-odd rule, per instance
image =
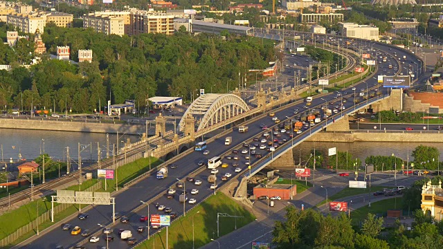
[[94, 133], [127, 133], [136, 135], [145, 132], [140, 124], [109, 124], [98, 122], [69, 122], [51, 120], [2, 119], [0, 129], [35, 129], [44, 131], [77, 131]]

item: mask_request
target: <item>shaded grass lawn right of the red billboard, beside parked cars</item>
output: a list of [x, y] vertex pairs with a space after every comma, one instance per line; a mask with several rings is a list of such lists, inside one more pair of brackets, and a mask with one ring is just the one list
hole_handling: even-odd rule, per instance
[[390, 198], [382, 201], [371, 203], [371, 207], [365, 205], [351, 212], [352, 223], [359, 223], [364, 221], [368, 213], [371, 214], [385, 214], [387, 210], [401, 210], [401, 197]]

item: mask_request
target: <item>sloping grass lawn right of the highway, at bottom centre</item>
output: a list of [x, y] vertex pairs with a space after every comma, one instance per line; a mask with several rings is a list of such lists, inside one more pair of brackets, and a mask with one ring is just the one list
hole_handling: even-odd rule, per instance
[[[197, 214], [197, 212], [199, 212]], [[216, 196], [201, 203], [197, 208], [180, 217], [169, 228], [168, 243], [170, 248], [192, 248], [192, 217], [194, 217], [195, 248], [204, 246], [210, 239], [217, 239], [217, 212], [244, 216], [237, 218], [237, 228], [255, 220], [255, 216], [239, 206], [225, 194], [218, 192]], [[235, 230], [235, 219], [220, 217], [220, 237]], [[166, 246], [166, 230], [151, 237], [138, 248], [164, 248]]]

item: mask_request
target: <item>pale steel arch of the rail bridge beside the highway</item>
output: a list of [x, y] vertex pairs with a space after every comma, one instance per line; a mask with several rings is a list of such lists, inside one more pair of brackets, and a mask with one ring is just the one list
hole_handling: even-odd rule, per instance
[[248, 104], [237, 95], [206, 93], [194, 100], [188, 107], [181, 117], [179, 127], [181, 131], [185, 129], [185, 118], [188, 114], [191, 114], [199, 123], [197, 129], [199, 131], [245, 111], [249, 111]]

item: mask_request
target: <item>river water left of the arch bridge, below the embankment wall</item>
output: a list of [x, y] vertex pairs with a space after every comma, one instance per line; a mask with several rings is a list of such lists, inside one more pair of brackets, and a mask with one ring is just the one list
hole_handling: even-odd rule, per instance
[[[120, 147], [123, 140], [130, 138], [131, 142], [140, 140], [140, 136], [119, 136]], [[83, 133], [66, 131], [34, 131], [24, 129], [0, 129], [0, 145], [3, 147], [3, 158], [8, 160], [19, 158], [33, 160], [44, 150], [46, 154], [64, 160], [66, 158], [66, 147], [69, 147], [71, 158], [78, 158], [78, 143], [80, 142], [81, 156], [83, 159], [97, 159], [97, 142], [100, 144], [102, 157], [106, 156], [106, 134], [105, 133]], [[92, 149], [91, 149], [92, 143]], [[117, 143], [117, 135], [109, 134], [109, 147]], [[89, 145], [89, 147], [87, 147]], [[112, 151], [109, 152], [112, 154]], [[1, 158], [0, 158], [1, 159]]]

